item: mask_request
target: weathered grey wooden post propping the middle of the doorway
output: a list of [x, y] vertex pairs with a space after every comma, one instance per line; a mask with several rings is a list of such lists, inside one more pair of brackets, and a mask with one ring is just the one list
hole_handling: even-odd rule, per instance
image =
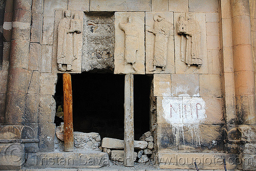
[[133, 74], [124, 78], [124, 165], [134, 166]]

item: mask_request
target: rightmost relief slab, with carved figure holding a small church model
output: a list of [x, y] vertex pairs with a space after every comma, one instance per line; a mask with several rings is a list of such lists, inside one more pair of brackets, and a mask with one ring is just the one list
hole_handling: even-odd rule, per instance
[[208, 74], [204, 13], [174, 13], [177, 74]]

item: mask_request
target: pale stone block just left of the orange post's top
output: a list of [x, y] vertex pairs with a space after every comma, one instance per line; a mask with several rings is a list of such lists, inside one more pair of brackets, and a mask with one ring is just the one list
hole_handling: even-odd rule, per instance
[[41, 75], [40, 75], [40, 94], [41, 95], [54, 95], [56, 82], [57, 82], [57, 74], [41, 73]]

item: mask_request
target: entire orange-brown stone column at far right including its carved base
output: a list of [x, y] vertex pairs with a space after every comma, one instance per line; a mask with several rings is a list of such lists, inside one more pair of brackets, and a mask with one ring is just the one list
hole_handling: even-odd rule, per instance
[[255, 170], [256, 110], [249, 0], [231, 0], [232, 52], [236, 113], [240, 135], [239, 169]]

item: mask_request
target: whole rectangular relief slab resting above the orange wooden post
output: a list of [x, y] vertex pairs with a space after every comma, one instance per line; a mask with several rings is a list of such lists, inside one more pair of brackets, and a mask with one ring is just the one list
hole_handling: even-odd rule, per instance
[[83, 12], [55, 11], [53, 62], [58, 73], [81, 73]]

